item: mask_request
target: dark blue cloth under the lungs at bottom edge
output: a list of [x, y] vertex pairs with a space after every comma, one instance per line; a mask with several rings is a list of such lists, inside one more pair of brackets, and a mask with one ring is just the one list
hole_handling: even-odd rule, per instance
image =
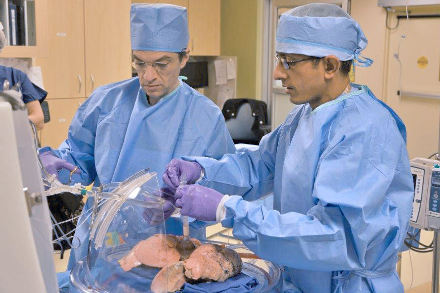
[[250, 293], [258, 282], [246, 274], [240, 273], [224, 282], [185, 283], [182, 293]]

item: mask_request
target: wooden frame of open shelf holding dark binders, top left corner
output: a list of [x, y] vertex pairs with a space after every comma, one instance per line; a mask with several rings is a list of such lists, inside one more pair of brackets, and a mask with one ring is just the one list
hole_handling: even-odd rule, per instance
[[[5, 13], [5, 12], [2, 12]], [[8, 13], [6, 12], [6, 15]], [[35, 0], [35, 41], [34, 46], [5, 46], [2, 58], [34, 58], [48, 56], [48, 1]], [[6, 28], [5, 28], [6, 30]], [[8, 32], [5, 32], [8, 33]]]

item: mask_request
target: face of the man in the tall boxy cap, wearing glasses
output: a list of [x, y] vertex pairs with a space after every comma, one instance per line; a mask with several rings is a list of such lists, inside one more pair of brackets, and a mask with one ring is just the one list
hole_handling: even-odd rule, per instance
[[179, 61], [178, 53], [133, 51], [133, 61], [149, 64], [135, 69], [144, 91], [152, 99], [158, 100], [179, 85], [179, 72], [187, 63], [188, 55]]

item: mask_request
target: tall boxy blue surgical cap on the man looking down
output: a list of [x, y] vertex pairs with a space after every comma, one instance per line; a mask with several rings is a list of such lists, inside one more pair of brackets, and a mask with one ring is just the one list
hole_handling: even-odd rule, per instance
[[185, 7], [131, 4], [131, 50], [182, 52], [188, 45]]

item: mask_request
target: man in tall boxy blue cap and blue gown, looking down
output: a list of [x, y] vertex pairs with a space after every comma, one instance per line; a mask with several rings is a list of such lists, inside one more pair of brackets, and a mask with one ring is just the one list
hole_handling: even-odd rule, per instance
[[[174, 157], [219, 159], [235, 152], [222, 112], [179, 80], [189, 53], [186, 8], [133, 4], [130, 16], [132, 64], [139, 77], [97, 88], [78, 109], [60, 147], [40, 150], [47, 169], [60, 169], [61, 182], [68, 181], [74, 166], [80, 169], [75, 182], [99, 185], [123, 181], [147, 167], [161, 175]], [[92, 206], [89, 199], [83, 210]], [[191, 235], [204, 238], [204, 228], [195, 228]], [[166, 229], [182, 234], [174, 218]], [[75, 236], [81, 246], [71, 250], [69, 270], [87, 254], [89, 221]]]

